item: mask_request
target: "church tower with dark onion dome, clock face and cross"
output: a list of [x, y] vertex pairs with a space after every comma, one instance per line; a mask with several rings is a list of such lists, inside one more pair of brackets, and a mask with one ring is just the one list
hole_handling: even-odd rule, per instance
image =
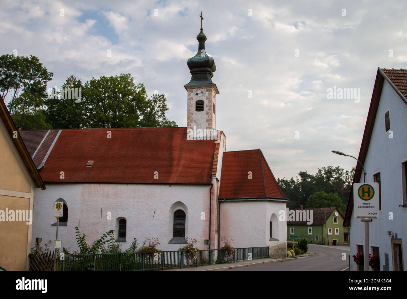
[[191, 80], [184, 85], [187, 91], [187, 131], [216, 129], [216, 94], [219, 94], [216, 84], [212, 82], [216, 70], [215, 61], [206, 54], [206, 35], [202, 30], [197, 35], [198, 52], [188, 59]]

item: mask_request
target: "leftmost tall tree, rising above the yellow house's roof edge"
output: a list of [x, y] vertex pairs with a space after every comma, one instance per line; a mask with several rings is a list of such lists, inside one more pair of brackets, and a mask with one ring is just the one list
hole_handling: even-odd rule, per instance
[[49, 129], [44, 116], [47, 84], [53, 73], [30, 55], [0, 56], [0, 93], [8, 97], [8, 109], [17, 126], [24, 129]]

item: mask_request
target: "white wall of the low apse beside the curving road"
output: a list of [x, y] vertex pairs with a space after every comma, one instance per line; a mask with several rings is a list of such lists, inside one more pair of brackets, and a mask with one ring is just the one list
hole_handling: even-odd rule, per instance
[[[219, 238], [233, 239], [232, 246], [236, 248], [269, 246], [271, 256], [285, 258], [287, 223], [278, 221], [280, 210], [285, 211], [285, 208], [285, 203], [271, 201], [221, 202]], [[270, 240], [269, 236], [269, 222], [272, 218], [276, 220], [273, 221], [276, 240]]]

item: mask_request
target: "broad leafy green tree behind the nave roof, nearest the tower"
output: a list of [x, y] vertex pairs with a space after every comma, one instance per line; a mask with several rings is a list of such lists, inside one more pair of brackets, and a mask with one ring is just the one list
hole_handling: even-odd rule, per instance
[[83, 89], [86, 127], [133, 128], [175, 127], [165, 112], [164, 95], [148, 98], [143, 84], [135, 84], [131, 74], [101, 76], [85, 83]]

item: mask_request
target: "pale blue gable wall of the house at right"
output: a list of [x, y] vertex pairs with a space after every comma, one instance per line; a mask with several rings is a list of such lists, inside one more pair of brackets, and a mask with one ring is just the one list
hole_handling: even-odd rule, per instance
[[[390, 130], [393, 138], [385, 132], [384, 114], [389, 110]], [[373, 175], [380, 172], [381, 214], [379, 219], [369, 223], [369, 251], [372, 246], [379, 247], [380, 269], [383, 270], [385, 253], [389, 256], [389, 271], [393, 271], [392, 243], [387, 231], [398, 234], [399, 239], [407, 239], [407, 207], [403, 204], [403, 180], [401, 164], [407, 159], [407, 106], [391, 85], [385, 80], [377, 109], [369, 150], [365, 159], [366, 182], [373, 181]], [[360, 182], [363, 182], [361, 176]], [[389, 213], [393, 219], [389, 220]], [[364, 223], [360, 219], [350, 218], [350, 256], [357, 253], [357, 245], [364, 245]], [[403, 242], [403, 255], [407, 252], [407, 242]], [[404, 269], [407, 258], [404, 257]], [[357, 271], [357, 264], [351, 258], [351, 271]], [[373, 269], [370, 268], [370, 271]]]

